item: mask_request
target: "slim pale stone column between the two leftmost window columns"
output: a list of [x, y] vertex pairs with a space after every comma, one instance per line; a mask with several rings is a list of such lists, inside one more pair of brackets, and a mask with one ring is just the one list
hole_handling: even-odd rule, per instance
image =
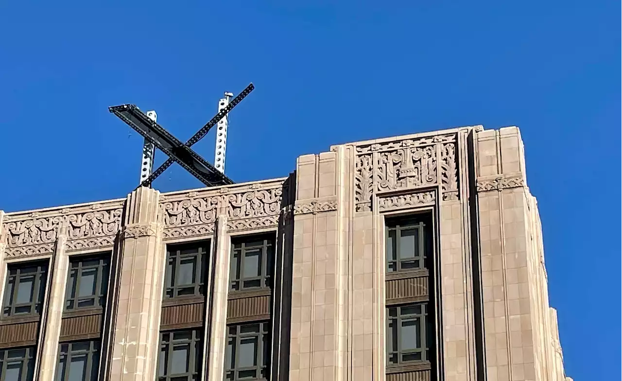
[[54, 255], [49, 281], [49, 301], [42, 319], [42, 357], [39, 367], [39, 381], [55, 380], [55, 370], [58, 364], [58, 341], [62, 325], [63, 310], [65, 309], [65, 288], [67, 288], [67, 274], [69, 270], [69, 256], [67, 255], [67, 227], [62, 226], [56, 238]]

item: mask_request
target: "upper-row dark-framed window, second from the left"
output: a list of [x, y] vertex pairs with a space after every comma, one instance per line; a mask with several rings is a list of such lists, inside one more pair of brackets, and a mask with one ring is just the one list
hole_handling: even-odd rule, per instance
[[90, 256], [70, 261], [65, 310], [103, 308], [106, 304], [110, 258]]

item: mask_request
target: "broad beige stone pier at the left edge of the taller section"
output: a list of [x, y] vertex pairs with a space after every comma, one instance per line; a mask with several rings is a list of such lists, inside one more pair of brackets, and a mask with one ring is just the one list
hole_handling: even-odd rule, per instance
[[[294, 206], [290, 379], [343, 380], [347, 348], [340, 243], [341, 158], [300, 156]], [[338, 169], [339, 168], [339, 169]], [[338, 180], [340, 179], [340, 180]], [[341, 190], [340, 190], [341, 191]]]

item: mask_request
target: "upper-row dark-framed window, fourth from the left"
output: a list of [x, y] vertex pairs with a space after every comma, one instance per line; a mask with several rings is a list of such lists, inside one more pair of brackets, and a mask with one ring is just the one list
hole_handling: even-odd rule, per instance
[[274, 240], [243, 237], [231, 245], [231, 291], [271, 287]]

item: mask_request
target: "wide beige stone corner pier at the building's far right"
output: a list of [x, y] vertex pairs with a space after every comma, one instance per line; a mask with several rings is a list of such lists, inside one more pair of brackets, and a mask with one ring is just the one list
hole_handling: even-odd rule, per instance
[[477, 148], [486, 372], [498, 381], [556, 379], [542, 345], [549, 302], [518, 128], [480, 132]]

